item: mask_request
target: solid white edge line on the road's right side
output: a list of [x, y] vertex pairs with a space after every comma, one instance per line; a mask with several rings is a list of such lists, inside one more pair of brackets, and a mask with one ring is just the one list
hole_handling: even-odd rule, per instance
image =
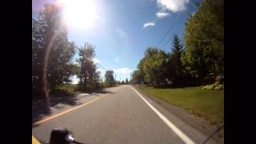
[[144, 102], [146, 102], [146, 104], [148, 106], [150, 106], [150, 108], [156, 113], [158, 114], [158, 116], [162, 119], [163, 122], [166, 123], [167, 126], [170, 127], [171, 130], [174, 130], [174, 133], [176, 133], [178, 135], [179, 138], [181, 138], [184, 142], [189, 143], [189, 144], [195, 144], [190, 138], [188, 138], [186, 136], [186, 134], [182, 133], [181, 130], [178, 130], [178, 128], [176, 126], [174, 126], [174, 124], [172, 122], [170, 122], [163, 114], [161, 114], [157, 109], [154, 108], [154, 106], [152, 106], [150, 104], [150, 102], [147, 102], [145, 98], [142, 97], [141, 94], [138, 93], [137, 90], [134, 89], [133, 86], [131, 86], [131, 88], [140, 96], [140, 98], [142, 98], [142, 100]]

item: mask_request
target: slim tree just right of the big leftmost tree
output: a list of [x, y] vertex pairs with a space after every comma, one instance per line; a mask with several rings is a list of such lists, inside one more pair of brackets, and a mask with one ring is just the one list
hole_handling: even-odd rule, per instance
[[85, 46], [78, 49], [79, 58], [77, 62], [80, 66], [78, 78], [80, 79], [79, 86], [81, 90], [87, 90], [88, 86], [93, 89], [95, 82], [99, 81], [99, 73], [96, 73], [96, 65], [93, 61], [95, 57], [94, 48], [93, 45], [85, 43]]

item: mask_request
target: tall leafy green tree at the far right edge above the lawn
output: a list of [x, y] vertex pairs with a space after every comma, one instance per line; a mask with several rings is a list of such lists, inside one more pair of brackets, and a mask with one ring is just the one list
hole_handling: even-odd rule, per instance
[[204, 0], [186, 22], [185, 56], [202, 84], [206, 74], [224, 73], [224, 1]]

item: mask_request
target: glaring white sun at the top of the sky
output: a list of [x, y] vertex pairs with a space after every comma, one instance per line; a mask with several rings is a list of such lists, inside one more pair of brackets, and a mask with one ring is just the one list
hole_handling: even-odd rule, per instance
[[93, 28], [98, 19], [94, 0], [57, 0], [62, 6], [62, 18], [67, 26], [78, 29]]

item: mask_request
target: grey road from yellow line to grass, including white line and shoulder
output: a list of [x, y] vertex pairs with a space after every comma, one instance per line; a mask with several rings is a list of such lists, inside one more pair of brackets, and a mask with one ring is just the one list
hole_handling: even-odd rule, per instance
[[34, 137], [47, 142], [52, 129], [66, 127], [74, 132], [75, 139], [86, 144], [200, 143], [206, 138], [157, 103], [141, 97], [132, 86], [114, 87], [87, 99], [84, 105], [51, 115], [33, 126]]

